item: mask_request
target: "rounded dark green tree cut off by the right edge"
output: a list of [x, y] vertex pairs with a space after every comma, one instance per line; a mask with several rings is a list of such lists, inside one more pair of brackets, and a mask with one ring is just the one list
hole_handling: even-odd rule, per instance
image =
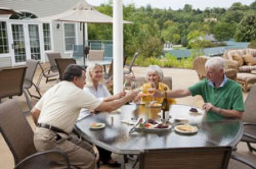
[[256, 39], [256, 16], [245, 16], [235, 29], [236, 41], [253, 41]]

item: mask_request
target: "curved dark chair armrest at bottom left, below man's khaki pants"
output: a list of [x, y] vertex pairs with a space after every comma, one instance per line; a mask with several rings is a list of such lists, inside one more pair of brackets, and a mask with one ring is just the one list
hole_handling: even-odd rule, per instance
[[38, 157], [40, 155], [46, 155], [46, 154], [51, 154], [51, 153], [56, 153], [56, 154], [60, 154], [64, 160], [66, 161], [67, 164], [67, 168], [70, 168], [70, 160], [67, 157], [67, 154], [64, 153], [62, 150], [59, 149], [52, 149], [52, 150], [46, 150], [46, 151], [40, 151], [34, 154], [29, 155], [28, 157], [22, 159], [14, 168], [19, 168], [19, 166], [21, 166], [23, 163], [25, 163], [27, 160]]

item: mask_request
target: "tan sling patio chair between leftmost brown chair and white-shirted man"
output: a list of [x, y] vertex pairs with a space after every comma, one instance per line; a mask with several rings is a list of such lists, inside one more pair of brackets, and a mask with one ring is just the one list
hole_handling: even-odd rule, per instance
[[[39, 64], [39, 61], [37, 61], [37, 60], [27, 60], [26, 61], [27, 70], [26, 70], [26, 74], [25, 74], [23, 88], [25, 88], [27, 90], [27, 92], [29, 93], [31, 98], [34, 97], [34, 98], [40, 99], [42, 97], [42, 95], [40, 94], [39, 88], [33, 82], [35, 70], [36, 70], [36, 67], [38, 64]], [[31, 88], [32, 86], [35, 87], [35, 90], [38, 93], [38, 96], [30, 93], [29, 88]]]

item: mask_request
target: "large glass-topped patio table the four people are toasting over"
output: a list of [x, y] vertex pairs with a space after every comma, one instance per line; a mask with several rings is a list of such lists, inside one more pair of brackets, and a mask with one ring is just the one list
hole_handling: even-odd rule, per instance
[[[121, 122], [131, 117], [145, 117], [144, 105], [129, 104], [121, 107], [121, 113], [98, 113], [79, 120], [76, 128], [88, 141], [117, 154], [139, 154], [143, 149], [168, 149], [177, 147], [205, 147], [205, 146], [235, 146], [242, 137], [243, 125], [240, 120], [225, 119], [222, 121], [209, 121], [206, 113], [192, 113], [189, 105], [172, 105], [169, 115], [170, 122], [176, 125], [174, 119], [188, 119], [189, 123], [196, 125], [195, 134], [179, 134], [173, 129], [168, 132], [133, 132], [133, 127]], [[151, 108], [151, 118], [157, 119], [160, 108]], [[113, 118], [113, 122], [111, 119]], [[92, 122], [103, 122], [104, 129], [90, 130]]]

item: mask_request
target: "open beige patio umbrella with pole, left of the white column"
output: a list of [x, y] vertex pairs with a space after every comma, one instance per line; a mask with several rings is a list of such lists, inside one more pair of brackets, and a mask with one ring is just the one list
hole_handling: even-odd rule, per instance
[[[40, 21], [63, 21], [63, 22], [79, 22], [79, 23], [112, 23], [113, 19], [111, 16], [101, 14], [99, 11], [95, 10], [94, 7], [89, 5], [86, 1], [82, 0], [77, 3], [72, 9], [64, 11], [57, 15], [46, 16], [43, 18], [38, 18], [36, 20]], [[124, 20], [123, 23], [129, 24]], [[85, 46], [85, 29], [83, 24], [83, 47]], [[85, 59], [85, 54], [83, 54]]]

